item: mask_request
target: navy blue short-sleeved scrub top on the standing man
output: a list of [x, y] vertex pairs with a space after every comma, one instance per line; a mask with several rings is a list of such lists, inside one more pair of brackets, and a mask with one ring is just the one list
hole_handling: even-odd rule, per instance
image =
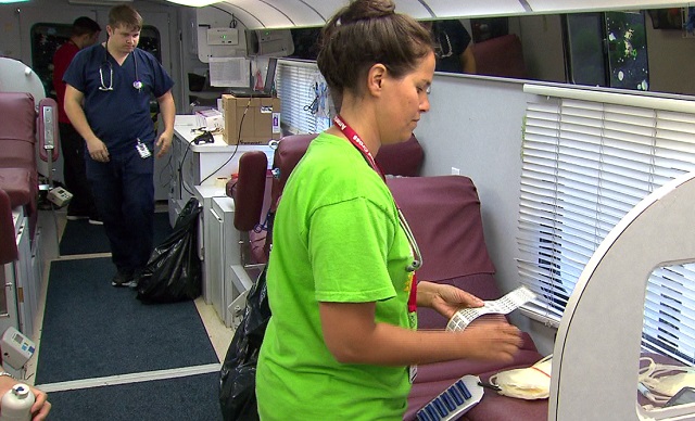
[[[141, 90], [132, 86], [137, 79], [142, 82]], [[150, 116], [150, 99], [163, 95], [174, 86], [174, 80], [152, 54], [136, 48], [118, 65], [104, 46], [98, 43], [75, 55], [63, 81], [84, 93], [87, 122], [106, 144], [109, 153], [135, 149], [138, 138], [152, 150], [156, 133]], [[113, 90], [99, 89], [109, 88], [112, 82]]]

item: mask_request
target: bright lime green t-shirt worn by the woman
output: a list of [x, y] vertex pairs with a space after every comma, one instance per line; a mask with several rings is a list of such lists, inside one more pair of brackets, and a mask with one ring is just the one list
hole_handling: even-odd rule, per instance
[[256, 373], [263, 420], [401, 420], [406, 367], [345, 365], [326, 347], [319, 302], [376, 302], [409, 326], [412, 261], [393, 196], [343, 138], [321, 133], [285, 187], [268, 264], [268, 323]]

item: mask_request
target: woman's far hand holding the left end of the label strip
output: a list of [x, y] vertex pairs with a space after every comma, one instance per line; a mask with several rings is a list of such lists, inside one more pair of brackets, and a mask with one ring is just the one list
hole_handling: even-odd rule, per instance
[[[482, 299], [454, 285], [422, 281], [417, 285], [418, 305], [451, 319], [460, 308], [482, 307]], [[422, 298], [422, 299], [420, 299]]]

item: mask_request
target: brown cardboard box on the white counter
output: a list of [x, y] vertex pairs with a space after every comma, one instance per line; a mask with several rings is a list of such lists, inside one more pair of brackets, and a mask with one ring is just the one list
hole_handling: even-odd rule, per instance
[[280, 139], [279, 98], [223, 94], [222, 107], [225, 116], [223, 138], [227, 144], [266, 144], [271, 139]]

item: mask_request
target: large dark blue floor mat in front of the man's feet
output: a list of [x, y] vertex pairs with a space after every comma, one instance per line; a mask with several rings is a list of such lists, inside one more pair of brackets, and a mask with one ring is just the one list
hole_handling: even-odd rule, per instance
[[110, 258], [55, 260], [36, 384], [218, 362], [193, 302], [143, 304]]

